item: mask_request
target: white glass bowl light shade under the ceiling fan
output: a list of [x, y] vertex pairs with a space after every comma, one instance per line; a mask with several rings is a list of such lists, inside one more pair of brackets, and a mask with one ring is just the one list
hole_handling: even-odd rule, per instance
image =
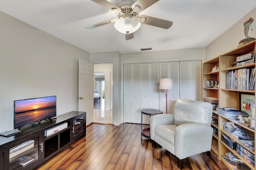
[[115, 22], [116, 30], [123, 34], [131, 34], [140, 28], [140, 22], [132, 18], [123, 18]]

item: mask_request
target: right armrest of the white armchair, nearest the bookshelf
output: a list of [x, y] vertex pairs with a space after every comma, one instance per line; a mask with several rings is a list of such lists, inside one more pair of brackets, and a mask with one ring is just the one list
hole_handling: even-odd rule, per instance
[[187, 123], [175, 129], [175, 155], [184, 159], [211, 150], [213, 129], [201, 123]]

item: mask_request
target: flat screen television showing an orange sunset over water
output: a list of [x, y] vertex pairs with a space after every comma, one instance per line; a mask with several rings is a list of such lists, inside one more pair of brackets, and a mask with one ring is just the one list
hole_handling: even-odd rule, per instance
[[14, 129], [56, 116], [56, 96], [14, 101]]

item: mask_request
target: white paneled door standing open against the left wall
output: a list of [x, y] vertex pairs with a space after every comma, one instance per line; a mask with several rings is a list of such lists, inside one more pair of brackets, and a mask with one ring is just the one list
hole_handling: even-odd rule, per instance
[[93, 64], [79, 59], [78, 111], [86, 112], [86, 126], [93, 121]]

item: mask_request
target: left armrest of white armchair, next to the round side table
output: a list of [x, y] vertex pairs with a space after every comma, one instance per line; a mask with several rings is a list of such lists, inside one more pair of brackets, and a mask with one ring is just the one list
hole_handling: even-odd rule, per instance
[[156, 125], [172, 125], [173, 122], [172, 114], [158, 114], [150, 117], [150, 138], [154, 140]]

